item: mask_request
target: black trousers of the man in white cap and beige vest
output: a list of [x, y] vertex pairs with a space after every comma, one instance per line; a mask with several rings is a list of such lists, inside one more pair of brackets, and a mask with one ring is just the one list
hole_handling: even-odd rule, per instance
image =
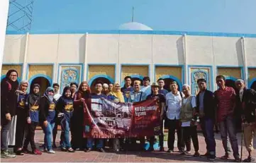
[[[182, 127], [182, 151], [185, 149], [185, 144], [191, 141], [193, 142], [194, 145], [194, 150], [195, 152], [199, 151], [199, 139], [197, 137], [197, 130], [196, 126], [189, 126], [189, 127]], [[191, 145], [190, 149], [191, 150]], [[188, 147], [187, 147], [188, 150]]]

